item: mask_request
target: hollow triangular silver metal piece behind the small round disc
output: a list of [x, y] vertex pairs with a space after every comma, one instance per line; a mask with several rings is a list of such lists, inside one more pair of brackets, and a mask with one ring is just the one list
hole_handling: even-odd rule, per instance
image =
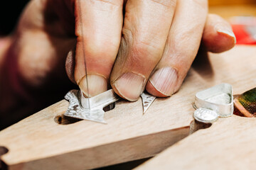
[[230, 84], [219, 84], [196, 94], [196, 108], [208, 108], [220, 117], [233, 115], [233, 90]]

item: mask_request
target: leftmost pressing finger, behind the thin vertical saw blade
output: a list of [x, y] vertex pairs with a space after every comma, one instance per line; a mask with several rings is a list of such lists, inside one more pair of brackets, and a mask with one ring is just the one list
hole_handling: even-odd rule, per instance
[[[107, 90], [107, 80], [119, 49], [122, 0], [75, 1], [75, 81], [85, 96]], [[87, 81], [85, 78], [85, 62]]]

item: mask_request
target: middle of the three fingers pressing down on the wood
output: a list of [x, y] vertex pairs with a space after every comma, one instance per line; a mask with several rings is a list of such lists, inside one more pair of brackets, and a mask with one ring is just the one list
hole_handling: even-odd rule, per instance
[[175, 6], [174, 0], [127, 1], [123, 37], [110, 78], [122, 98], [135, 101], [142, 94], [161, 59]]

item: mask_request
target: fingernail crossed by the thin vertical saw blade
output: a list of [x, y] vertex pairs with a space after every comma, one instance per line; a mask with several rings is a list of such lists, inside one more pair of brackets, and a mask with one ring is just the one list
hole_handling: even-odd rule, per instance
[[[107, 91], [107, 79], [97, 74], [89, 74], [88, 79], [88, 91], [87, 91], [87, 81], [86, 77], [82, 77], [79, 88], [82, 93], [87, 97], [97, 96], [98, 94]], [[89, 94], [88, 94], [89, 92]]]

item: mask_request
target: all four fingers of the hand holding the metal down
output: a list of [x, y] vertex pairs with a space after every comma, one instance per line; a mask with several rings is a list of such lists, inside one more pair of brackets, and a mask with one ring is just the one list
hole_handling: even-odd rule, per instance
[[208, 16], [206, 0], [129, 0], [124, 21], [122, 1], [81, 2], [85, 15], [77, 16], [75, 72], [69, 75], [86, 96], [106, 91], [109, 81], [129, 101], [136, 101], [145, 87], [154, 96], [171, 96], [196, 57], [204, 28], [203, 42], [210, 51], [222, 52], [235, 45], [229, 24], [219, 16]]

